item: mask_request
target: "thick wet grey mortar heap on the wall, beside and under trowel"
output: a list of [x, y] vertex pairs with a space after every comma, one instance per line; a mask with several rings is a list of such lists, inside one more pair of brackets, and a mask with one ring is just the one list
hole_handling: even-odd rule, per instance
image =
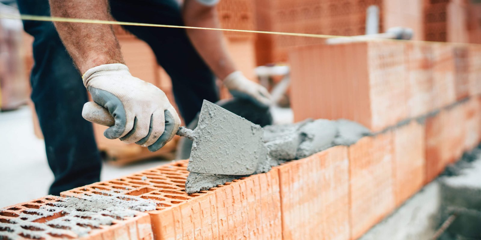
[[[263, 130], [264, 144], [261, 145], [266, 148], [266, 151], [260, 151], [259, 148], [253, 151], [266, 154], [267, 157], [258, 162], [254, 174], [267, 172], [285, 161], [311, 156], [332, 146], [354, 144], [363, 136], [371, 134], [363, 125], [344, 119], [304, 120], [293, 124], [269, 125]], [[225, 147], [228, 147], [228, 143], [225, 144]], [[250, 150], [245, 148], [245, 151]], [[241, 177], [245, 176], [190, 172], [185, 189], [191, 194]]]

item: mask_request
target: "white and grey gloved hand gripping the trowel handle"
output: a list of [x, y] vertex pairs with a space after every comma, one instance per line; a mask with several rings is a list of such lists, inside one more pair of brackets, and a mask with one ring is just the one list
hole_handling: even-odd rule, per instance
[[165, 93], [133, 77], [124, 64], [103, 64], [83, 75], [92, 99], [107, 108], [115, 125], [103, 132], [109, 139], [148, 146], [157, 151], [172, 140], [180, 125]]

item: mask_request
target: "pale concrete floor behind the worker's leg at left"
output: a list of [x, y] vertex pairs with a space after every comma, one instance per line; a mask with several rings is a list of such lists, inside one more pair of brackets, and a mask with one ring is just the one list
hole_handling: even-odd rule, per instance
[[[0, 112], [0, 135], [0, 208], [47, 195], [53, 174], [47, 164], [45, 144], [34, 135], [30, 109]], [[167, 162], [153, 159], [126, 167], [103, 164], [101, 180]]]

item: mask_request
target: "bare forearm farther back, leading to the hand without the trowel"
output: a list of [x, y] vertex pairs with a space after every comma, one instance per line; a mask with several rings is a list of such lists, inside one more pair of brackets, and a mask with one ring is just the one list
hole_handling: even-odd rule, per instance
[[[215, 8], [203, 6], [196, 0], [185, 1], [183, 16], [187, 26], [220, 28]], [[187, 29], [187, 34], [219, 79], [225, 79], [228, 74], [236, 71], [221, 31]]]

